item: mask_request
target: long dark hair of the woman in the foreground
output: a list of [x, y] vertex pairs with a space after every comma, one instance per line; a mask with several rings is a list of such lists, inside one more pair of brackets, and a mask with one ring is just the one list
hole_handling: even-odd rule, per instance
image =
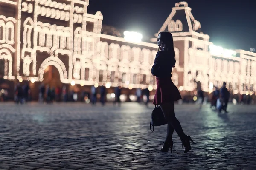
[[166, 51], [169, 51], [171, 53], [170, 57], [172, 57], [172, 61], [173, 61], [172, 67], [175, 67], [176, 59], [174, 58], [175, 51], [174, 51], [172, 34], [170, 32], [160, 32], [159, 34], [161, 34], [160, 39], [162, 40], [162, 43], [166, 45], [165, 46]]

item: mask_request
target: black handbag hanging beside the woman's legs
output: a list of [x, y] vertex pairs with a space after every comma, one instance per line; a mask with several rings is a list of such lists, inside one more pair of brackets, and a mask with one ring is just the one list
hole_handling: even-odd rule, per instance
[[[150, 120], [150, 130], [151, 132], [154, 131], [154, 126], [162, 126], [167, 124], [168, 121], [163, 115], [163, 111], [159, 105], [155, 105], [154, 110], [151, 114], [151, 120]], [[151, 126], [153, 126], [153, 130], [151, 129]]]

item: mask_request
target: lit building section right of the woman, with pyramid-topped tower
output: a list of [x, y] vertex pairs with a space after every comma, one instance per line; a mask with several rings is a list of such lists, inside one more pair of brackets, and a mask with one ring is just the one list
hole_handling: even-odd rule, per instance
[[175, 47], [180, 51], [176, 56], [179, 57], [176, 71], [180, 89], [194, 91], [200, 85], [203, 91], [211, 92], [213, 86], [220, 88], [227, 82], [233, 94], [253, 94], [256, 91], [256, 72], [253, 72], [256, 53], [215, 46], [200, 30], [201, 24], [195, 20], [186, 2], [175, 4], [159, 30], [172, 32]]

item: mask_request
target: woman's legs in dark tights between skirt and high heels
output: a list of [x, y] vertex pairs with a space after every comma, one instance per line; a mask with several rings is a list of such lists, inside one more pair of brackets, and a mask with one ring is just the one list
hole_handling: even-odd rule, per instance
[[174, 130], [180, 137], [180, 140], [183, 141], [185, 133], [180, 125], [179, 120], [175, 117], [174, 114], [174, 101], [163, 103], [160, 105], [163, 111], [165, 118], [168, 120], [168, 127], [167, 127], [167, 135], [166, 135], [166, 142], [171, 141], [172, 134]]

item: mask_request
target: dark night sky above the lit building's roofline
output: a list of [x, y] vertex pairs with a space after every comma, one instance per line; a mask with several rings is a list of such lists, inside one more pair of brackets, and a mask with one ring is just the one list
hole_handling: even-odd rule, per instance
[[[88, 12], [101, 11], [103, 24], [143, 35], [157, 33], [181, 0], [90, 0]], [[215, 45], [256, 48], [256, 0], [186, 0], [201, 31]]]

